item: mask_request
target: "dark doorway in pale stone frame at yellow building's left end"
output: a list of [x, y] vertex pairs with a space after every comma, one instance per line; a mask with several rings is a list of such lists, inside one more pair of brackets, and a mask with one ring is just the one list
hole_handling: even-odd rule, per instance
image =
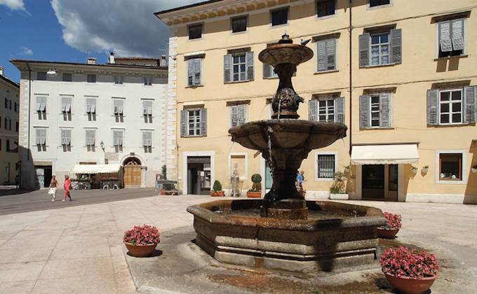
[[210, 156], [187, 157], [187, 193], [210, 193]]

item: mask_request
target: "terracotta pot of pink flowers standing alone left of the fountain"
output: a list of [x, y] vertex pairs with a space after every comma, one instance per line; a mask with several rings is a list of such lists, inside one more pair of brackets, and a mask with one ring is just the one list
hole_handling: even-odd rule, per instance
[[135, 257], [150, 255], [161, 241], [159, 230], [151, 225], [135, 225], [124, 232], [124, 244], [129, 254]]

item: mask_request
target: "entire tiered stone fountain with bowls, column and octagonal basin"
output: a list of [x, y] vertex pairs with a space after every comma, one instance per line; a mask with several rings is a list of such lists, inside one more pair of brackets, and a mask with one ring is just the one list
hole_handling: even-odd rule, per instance
[[292, 84], [297, 65], [313, 57], [287, 34], [260, 52], [280, 82], [271, 120], [229, 130], [232, 141], [260, 151], [273, 186], [263, 200], [219, 200], [188, 207], [194, 214], [196, 244], [220, 262], [288, 271], [330, 271], [365, 265], [376, 258], [377, 226], [385, 223], [373, 207], [305, 201], [295, 180], [302, 160], [316, 148], [346, 137], [346, 125], [299, 120], [304, 99]]

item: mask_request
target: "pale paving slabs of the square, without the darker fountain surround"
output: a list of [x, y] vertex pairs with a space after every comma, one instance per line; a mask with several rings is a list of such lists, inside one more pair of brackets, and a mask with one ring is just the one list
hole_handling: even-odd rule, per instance
[[[0, 293], [135, 293], [123, 231], [142, 223], [156, 225], [167, 244], [175, 229], [193, 230], [186, 207], [210, 200], [203, 195], [154, 196], [0, 216]], [[452, 257], [448, 264], [475, 276], [477, 206], [350, 203], [402, 214], [398, 240], [445, 250]], [[443, 274], [436, 285], [462, 286], [466, 278], [471, 276]]]

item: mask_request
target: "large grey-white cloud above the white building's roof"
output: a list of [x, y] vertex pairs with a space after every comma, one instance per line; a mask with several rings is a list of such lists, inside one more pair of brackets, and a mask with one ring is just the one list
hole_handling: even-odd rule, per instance
[[63, 39], [73, 48], [158, 57], [166, 53], [169, 32], [153, 13], [199, 1], [51, 0], [51, 6], [63, 27]]

